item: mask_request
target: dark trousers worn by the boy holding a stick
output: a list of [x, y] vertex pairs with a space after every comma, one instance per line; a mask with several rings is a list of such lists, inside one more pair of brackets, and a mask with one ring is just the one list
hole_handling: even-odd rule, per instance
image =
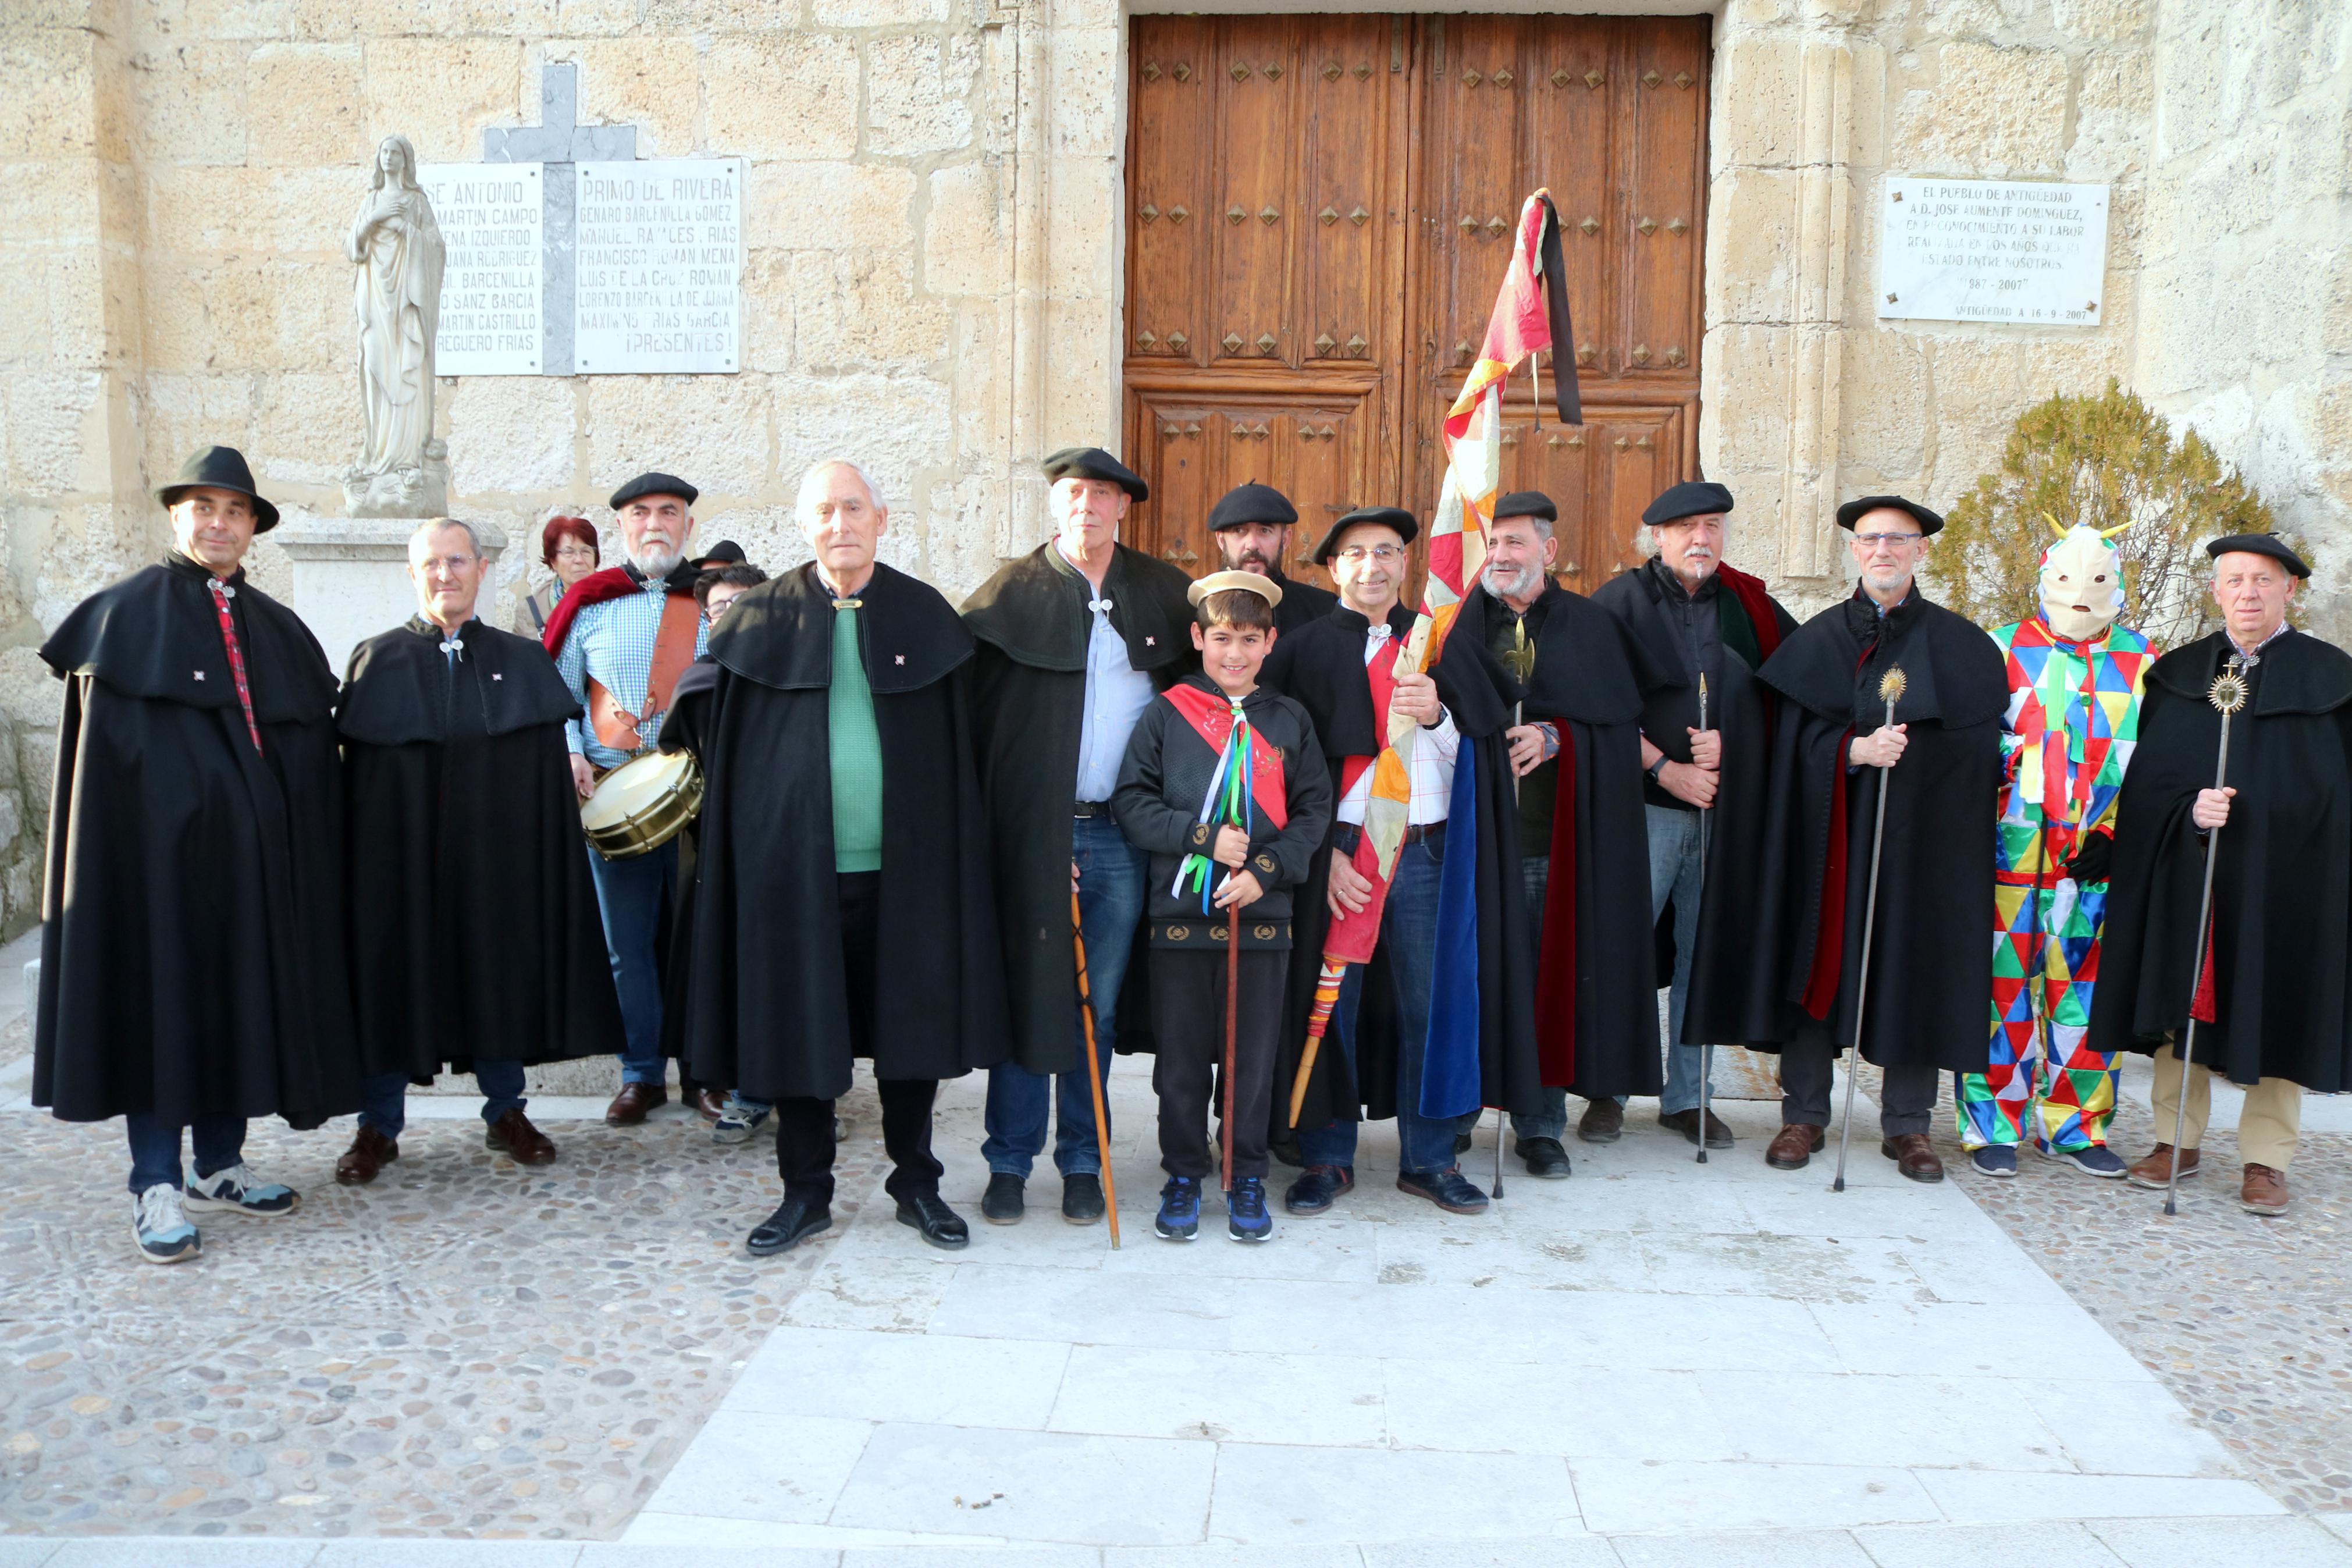
[[[1282, 1030], [1287, 952], [1244, 952], [1240, 1027], [1232, 1041], [1232, 1175], [1265, 1178], [1265, 1117], [1275, 1084], [1275, 1037]], [[1209, 1178], [1209, 1093], [1225, 1060], [1225, 954], [1152, 947], [1152, 1032], [1160, 1058], [1160, 1168]], [[1218, 1105], [1216, 1110], [1223, 1110]]]

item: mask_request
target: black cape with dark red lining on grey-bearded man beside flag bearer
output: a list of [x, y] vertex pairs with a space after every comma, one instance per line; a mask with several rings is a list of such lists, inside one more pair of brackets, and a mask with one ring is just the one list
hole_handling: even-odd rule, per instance
[[[1653, 1095], [1663, 1084], [1649, 816], [1642, 809], [1642, 698], [1675, 677], [1653, 665], [1625, 623], [1592, 599], [1548, 583], [1538, 602], [1543, 632], [1524, 689], [1524, 717], [1559, 729], [1559, 804], [1552, 844], [1519, 844], [1519, 853], [1550, 856], [1555, 875], [1573, 877], [1569, 886], [1550, 889], [1545, 900], [1543, 978], [1536, 987], [1543, 1081], [1588, 1100]], [[1484, 585], [1472, 588], [1446, 637], [1446, 663], [1477, 658], [1489, 679], [1517, 693], [1489, 649], [1491, 616], [1501, 614]], [[1510, 722], [1508, 710], [1503, 722]], [[1573, 919], [1552, 919], [1552, 910], [1571, 907]]]

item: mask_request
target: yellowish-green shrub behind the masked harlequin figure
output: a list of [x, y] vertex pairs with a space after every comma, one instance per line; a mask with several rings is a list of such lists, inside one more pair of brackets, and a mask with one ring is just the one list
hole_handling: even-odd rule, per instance
[[[2204, 545], [2223, 534], [2265, 534], [2263, 498], [2187, 430], [2173, 442], [2161, 414], [2114, 381], [2100, 397], [2060, 393], [2018, 414], [1999, 473], [1952, 505], [1926, 576], [1940, 599], [1992, 628], [2034, 614], [2051, 524], [2089, 522], [2124, 557], [2124, 625], [2159, 649], [2220, 625]], [[2300, 545], [2296, 550], [2310, 559]]]

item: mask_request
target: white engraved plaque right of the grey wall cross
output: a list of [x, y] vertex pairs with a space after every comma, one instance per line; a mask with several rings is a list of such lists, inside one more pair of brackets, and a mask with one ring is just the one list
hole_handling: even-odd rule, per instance
[[743, 160], [576, 169], [572, 369], [734, 374], [743, 355]]

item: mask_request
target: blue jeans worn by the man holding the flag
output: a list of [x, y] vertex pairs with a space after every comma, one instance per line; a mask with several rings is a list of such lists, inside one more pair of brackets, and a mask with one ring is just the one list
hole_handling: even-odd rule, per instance
[[[1397, 851], [1397, 870], [1388, 882], [1388, 905], [1381, 910], [1381, 947], [1388, 950], [1388, 973], [1397, 987], [1397, 1168], [1406, 1175], [1430, 1175], [1454, 1166], [1454, 1133], [1477, 1121], [1468, 1117], [1421, 1114], [1421, 1065], [1430, 1039], [1430, 990], [1437, 966], [1437, 875], [1446, 863], [1444, 837], [1421, 839]], [[1364, 992], [1364, 966], [1352, 964], [1331, 1011], [1331, 1027], [1355, 1072], [1355, 1009]], [[1329, 1044], [1329, 1041], [1327, 1041]], [[1301, 1128], [1298, 1152], [1310, 1166], [1355, 1168], [1359, 1121], [1331, 1121]]]

